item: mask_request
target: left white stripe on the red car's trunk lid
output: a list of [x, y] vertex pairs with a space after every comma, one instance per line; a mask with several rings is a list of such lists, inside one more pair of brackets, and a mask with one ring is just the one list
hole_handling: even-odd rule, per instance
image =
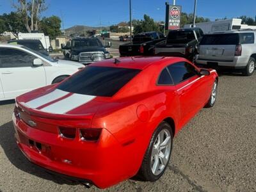
[[51, 93], [48, 93], [33, 100], [29, 100], [29, 102], [26, 102], [26, 106], [28, 106], [29, 108], [38, 108], [44, 104], [47, 104], [48, 102], [51, 102], [52, 100], [59, 99], [60, 97], [63, 97], [67, 94], [68, 92], [56, 89]]

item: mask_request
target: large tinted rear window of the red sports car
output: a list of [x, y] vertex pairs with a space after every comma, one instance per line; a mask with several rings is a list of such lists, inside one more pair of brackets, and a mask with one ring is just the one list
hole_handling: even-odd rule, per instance
[[88, 66], [61, 83], [58, 89], [83, 95], [112, 97], [141, 70]]

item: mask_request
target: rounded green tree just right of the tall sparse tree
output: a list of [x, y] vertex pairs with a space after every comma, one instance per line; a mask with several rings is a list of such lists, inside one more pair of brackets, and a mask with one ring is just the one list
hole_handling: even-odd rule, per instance
[[51, 39], [61, 35], [61, 19], [60, 17], [52, 15], [51, 17], [44, 17], [40, 21], [40, 31], [43, 31], [45, 35], [49, 35]]

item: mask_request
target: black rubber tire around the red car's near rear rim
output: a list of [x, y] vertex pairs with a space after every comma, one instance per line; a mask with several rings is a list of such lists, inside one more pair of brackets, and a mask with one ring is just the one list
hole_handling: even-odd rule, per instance
[[[166, 164], [163, 168], [163, 170], [161, 170], [161, 173], [159, 173], [158, 175], [155, 175], [152, 172], [152, 148], [155, 145], [155, 142], [157, 140], [157, 136], [159, 134], [159, 132], [161, 131], [168, 131], [170, 133], [170, 147], [168, 147], [168, 152], [169, 152], [169, 156], [168, 156], [168, 160], [166, 161]], [[166, 170], [166, 167], [168, 166], [168, 163], [170, 161], [170, 156], [172, 154], [172, 141], [173, 141], [173, 132], [172, 132], [172, 127], [166, 123], [166, 122], [162, 122], [160, 125], [158, 125], [156, 131], [154, 132], [150, 143], [148, 145], [147, 151], [145, 153], [145, 156], [143, 158], [140, 170], [137, 174], [137, 177], [140, 178], [141, 180], [145, 180], [145, 181], [151, 181], [154, 182], [156, 180], [158, 180], [164, 173], [164, 171]], [[158, 160], [159, 162], [161, 162], [160, 160]]]

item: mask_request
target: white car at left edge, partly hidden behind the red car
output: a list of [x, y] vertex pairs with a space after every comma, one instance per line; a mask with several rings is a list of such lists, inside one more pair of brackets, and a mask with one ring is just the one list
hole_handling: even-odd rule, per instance
[[0, 45], [0, 100], [59, 83], [84, 65], [54, 60], [22, 45]]

